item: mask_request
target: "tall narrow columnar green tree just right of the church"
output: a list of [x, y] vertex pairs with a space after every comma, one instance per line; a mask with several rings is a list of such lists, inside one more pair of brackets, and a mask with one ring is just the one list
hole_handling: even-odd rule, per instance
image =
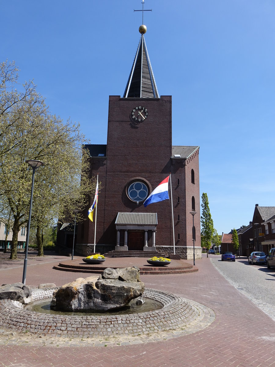
[[214, 226], [213, 220], [210, 214], [209, 201], [206, 193], [202, 194], [202, 215], [201, 215], [201, 247], [205, 247], [208, 250], [211, 247], [211, 240], [213, 236]]

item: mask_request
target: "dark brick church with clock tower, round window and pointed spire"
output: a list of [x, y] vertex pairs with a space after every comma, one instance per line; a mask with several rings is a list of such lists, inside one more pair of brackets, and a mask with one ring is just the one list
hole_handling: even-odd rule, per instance
[[[172, 96], [159, 95], [144, 33], [123, 97], [109, 96], [107, 144], [86, 145], [91, 177], [99, 175], [96, 252], [157, 251], [201, 258], [199, 146], [172, 145]], [[143, 206], [171, 173], [169, 200]], [[173, 199], [173, 225], [170, 185]], [[91, 193], [91, 203], [94, 193]], [[88, 208], [87, 208], [88, 210]], [[94, 250], [94, 222], [78, 224], [76, 252]]]

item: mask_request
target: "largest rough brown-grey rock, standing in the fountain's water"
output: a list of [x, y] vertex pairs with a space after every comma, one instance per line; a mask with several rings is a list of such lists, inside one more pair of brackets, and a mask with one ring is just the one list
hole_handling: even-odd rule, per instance
[[139, 268], [104, 270], [94, 276], [78, 278], [65, 284], [53, 294], [51, 309], [66, 311], [110, 310], [127, 305], [144, 292]]

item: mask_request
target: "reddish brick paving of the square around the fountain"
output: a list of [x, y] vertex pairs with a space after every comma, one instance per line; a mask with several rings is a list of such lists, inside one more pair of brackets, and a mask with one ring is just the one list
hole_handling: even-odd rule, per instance
[[[23, 262], [19, 260], [14, 265], [14, 261], [8, 261], [6, 265], [7, 261], [1, 260], [3, 256], [0, 255], [0, 283], [21, 281]], [[58, 261], [55, 255], [29, 259], [27, 284], [55, 283], [60, 286], [87, 276], [52, 269]], [[120, 261], [129, 266], [127, 258]], [[182, 334], [167, 340], [164, 335], [160, 335], [159, 341], [142, 338], [139, 343], [127, 340], [125, 334], [118, 336], [116, 344], [100, 338], [102, 346], [93, 346], [88, 338], [60, 339], [60, 345], [58, 340], [52, 339], [51, 344], [49, 339], [45, 346], [39, 338], [32, 341], [26, 338], [24, 345], [16, 342], [16, 335], [11, 335], [11, 340], [15, 338], [13, 345], [0, 345], [0, 366], [275, 366], [274, 321], [232, 287], [210, 259], [198, 259], [196, 266], [197, 273], [143, 275], [141, 279], [146, 288], [167, 291], [212, 309], [216, 319], [207, 328], [187, 335], [183, 330]]]

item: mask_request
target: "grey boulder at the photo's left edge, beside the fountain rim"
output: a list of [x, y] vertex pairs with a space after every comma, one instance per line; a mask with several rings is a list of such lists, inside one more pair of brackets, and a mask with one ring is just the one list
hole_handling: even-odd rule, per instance
[[23, 283], [4, 284], [0, 287], [0, 299], [11, 299], [27, 305], [33, 302], [32, 289]]

